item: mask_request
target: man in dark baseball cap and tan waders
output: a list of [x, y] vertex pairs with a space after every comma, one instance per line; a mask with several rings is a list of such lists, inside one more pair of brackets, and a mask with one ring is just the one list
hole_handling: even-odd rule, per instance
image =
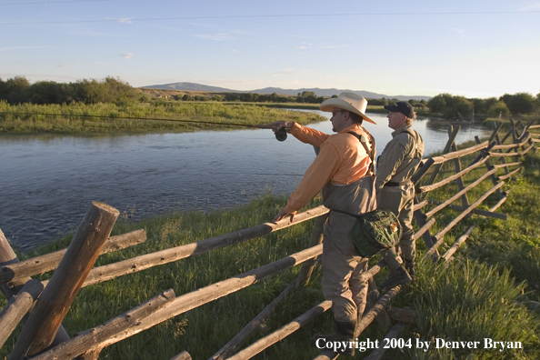
[[412, 225], [415, 185], [411, 176], [424, 155], [424, 140], [413, 130], [415, 110], [412, 105], [400, 101], [386, 105], [385, 109], [390, 112], [387, 115], [388, 127], [394, 129], [394, 132], [392, 140], [377, 159], [376, 198], [378, 207], [392, 211], [403, 228], [399, 249], [405, 258], [406, 269], [400, 264], [401, 259], [395, 256], [393, 249], [383, 253], [390, 277], [381, 286], [392, 288], [415, 280], [416, 247]]

